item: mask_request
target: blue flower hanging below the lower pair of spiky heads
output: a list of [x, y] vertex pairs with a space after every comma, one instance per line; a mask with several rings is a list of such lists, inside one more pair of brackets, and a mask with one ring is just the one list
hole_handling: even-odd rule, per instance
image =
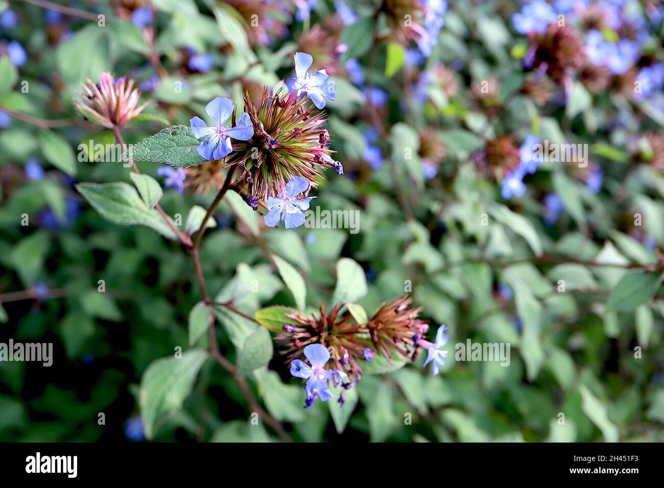
[[334, 398], [327, 386], [328, 381], [332, 381], [335, 386], [338, 386], [341, 384], [341, 380], [347, 378], [348, 375], [340, 370], [325, 369], [325, 364], [330, 359], [330, 353], [322, 344], [309, 344], [304, 348], [304, 356], [309, 360], [311, 366], [295, 359], [291, 363], [290, 371], [293, 376], [307, 380], [304, 387], [307, 398], [306, 406], [311, 406], [316, 398], [320, 398], [322, 402]]

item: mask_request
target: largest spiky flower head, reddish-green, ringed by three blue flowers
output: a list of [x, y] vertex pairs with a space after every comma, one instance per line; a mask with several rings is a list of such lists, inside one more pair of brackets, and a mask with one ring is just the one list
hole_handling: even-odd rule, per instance
[[333, 166], [327, 147], [329, 133], [325, 117], [308, 98], [264, 89], [258, 104], [244, 96], [244, 111], [254, 125], [247, 141], [234, 141], [226, 166], [242, 169], [236, 183], [247, 183], [248, 197], [266, 199], [278, 195], [293, 177], [303, 177], [318, 186], [322, 172]]

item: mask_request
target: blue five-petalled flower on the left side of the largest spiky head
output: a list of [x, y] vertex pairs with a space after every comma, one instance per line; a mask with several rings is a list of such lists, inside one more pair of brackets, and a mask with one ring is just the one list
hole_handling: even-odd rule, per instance
[[206, 141], [201, 141], [196, 148], [199, 154], [205, 157], [205, 159], [211, 161], [212, 159], [226, 157], [233, 150], [230, 143], [231, 137], [238, 139], [238, 141], [247, 141], [254, 135], [254, 125], [249, 118], [249, 114], [246, 112], [240, 114], [235, 127], [226, 127], [223, 125], [230, 117], [230, 114], [233, 113], [233, 108], [233, 101], [230, 98], [218, 96], [205, 107], [205, 112], [207, 112], [214, 123], [213, 126], [208, 127], [199, 117], [194, 117], [189, 121], [194, 137], [197, 139], [205, 137], [207, 139]]

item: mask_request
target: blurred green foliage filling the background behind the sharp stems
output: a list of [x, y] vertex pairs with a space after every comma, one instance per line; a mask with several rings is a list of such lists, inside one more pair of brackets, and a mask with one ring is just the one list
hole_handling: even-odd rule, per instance
[[[661, 99], [658, 106], [625, 93], [618, 77], [593, 93], [579, 76], [552, 80], [548, 100], [537, 104], [521, 90], [537, 74], [524, 68], [533, 37], [515, 30], [511, 15], [521, 5], [512, 1], [451, 3], [432, 54], [419, 61], [414, 44], [395, 37], [395, 1], [349, 2], [353, 23], [339, 2], [324, 0], [77, 1], [64, 13], [35, 3], [0, 2], [0, 338], [51, 342], [54, 362], [0, 363], [0, 440], [141, 440], [141, 378], [175, 347], [189, 349], [190, 313], [201, 299], [182, 246], [146, 227], [107, 222], [76, 192], [81, 181], [131, 183], [129, 171], [108, 158], [77, 161], [79, 144], [114, 142], [111, 131], [76, 116], [80, 84], [103, 71], [140, 83], [141, 100], [151, 103], [124, 130], [133, 143], [162, 129], [161, 121], [188, 125], [215, 96], [241, 107], [244, 91], [258, 96], [292, 76], [296, 50], [312, 54], [337, 84], [337, 100], [325, 110], [346, 175], [327, 175], [316, 203], [359, 210], [360, 232], [270, 229], [224, 199], [201, 248], [208, 290], [250, 315], [295, 306], [268, 248], [304, 277], [307, 307], [329, 308], [341, 279], [337, 261], [351, 258], [365, 274], [359, 303], [370, 314], [412, 284], [409, 294], [432, 331], [448, 325], [450, 357], [467, 339], [510, 343], [512, 357], [509, 367], [450, 361], [431, 376], [420, 355], [388, 374], [363, 375], [343, 409], [317, 402], [304, 410], [303, 388], [276, 348], [248, 378], [291, 437], [664, 440], [661, 291], [641, 297], [639, 283], [618, 286], [629, 272], [661, 273], [655, 250], [664, 245], [664, 178], [649, 164], [657, 151], [664, 157]], [[401, 2], [406, 13], [419, 3]], [[661, 62], [661, 8], [655, 17], [651, 3], [631, 3], [650, 26], [643, 56]], [[150, 15], [135, 14], [140, 8]], [[269, 21], [264, 35], [252, 27], [253, 13]], [[11, 42], [22, 46], [24, 62]], [[349, 60], [357, 60], [360, 78]], [[488, 98], [473, 88], [481, 80], [493, 83]], [[487, 141], [529, 133], [588, 144], [603, 171], [601, 191], [590, 191], [574, 165], [547, 161], [528, 177], [523, 197], [503, 199], [500, 176], [481, 171]], [[518, 151], [511, 145], [508, 153]], [[414, 157], [405, 159], [404, 148], [414, 148]], [[137, 165], [161, 180], [160, 165]], [[161, 205], [186, 216], [212, 201], [191, 190], [166, 190]], [[562, 199], [552, 220], [550, 193]], [[24, 214], [29, 225], [21, 225]], [[97, 291], [100, 280], [105, 293]], [[608, 307], [613, 295], [618, 305]], [[236, 363], [258, 326], [224, 311], [216, 319], [220, 349]], [[199, 339], [194, 353], [206, 346]], [[214, 361], [194, 378], [191, 392], [171, 399], [181, 408], [169, 412], [155, 440], [277, 439], [250, 423], [252, 408]]]

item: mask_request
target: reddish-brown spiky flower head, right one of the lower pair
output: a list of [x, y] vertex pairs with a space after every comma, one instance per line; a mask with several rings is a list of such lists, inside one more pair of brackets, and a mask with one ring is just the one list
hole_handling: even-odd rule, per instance
[[376, 353], [390, 363], [395, 355], [412, 358], [416, 345], [429, 326], [418, 318], [422, 307], [410, 308], [412, 298], [400, 297], [391, 303], [382, 303], [367, 322], [367, 330]]

